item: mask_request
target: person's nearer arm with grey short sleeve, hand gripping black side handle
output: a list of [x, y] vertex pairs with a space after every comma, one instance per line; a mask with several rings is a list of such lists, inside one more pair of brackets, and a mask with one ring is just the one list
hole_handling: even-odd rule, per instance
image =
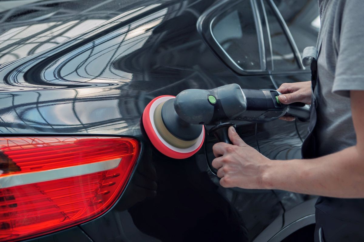
[[332, 92], [350, 97], [356, 145], [316, 159], [272, 161], [246, 145], [230, 128], [229, 137], [234, 145], [218, 143], [213, 147], [218, 158], [212, 165], [222, 177], [222, 186], [364, 198], [364, 75], [361, 68], [364, 51], [358, 44], [364, 40], [364, 25], [360, 24], [364, 17], [359, 11], [364, 8], [364, 1], [343, 4], [340, 41], [335, 41], [338, 55]]

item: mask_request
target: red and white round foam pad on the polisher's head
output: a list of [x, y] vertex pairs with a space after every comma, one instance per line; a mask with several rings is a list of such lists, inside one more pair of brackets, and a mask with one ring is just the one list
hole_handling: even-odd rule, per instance
[[185, 159], [190, 156], [193, 156], [203, 144], [203, 140], [205, 139], [205, 130], [201, 125], [201, 135], [198, 136], [196, 142], [188, 148], [178, 148], [174, 147], [173, 145], [169, 144], [166, 140], [162, 138], [159, 134], [157, 128], [155, 127], [154, 123], [154, 114], [155, 109], [158, 107], [159, 104], [171, 99], [175, 98], [174, 96], [164, 95], [154, 98], [145, 108], [143, 112], [143, 126], [145, 132], [148, 135], [148, 138], [152, 142], [155, 148], [158, 149], [164, 155], [174, 158], [174, 159]]

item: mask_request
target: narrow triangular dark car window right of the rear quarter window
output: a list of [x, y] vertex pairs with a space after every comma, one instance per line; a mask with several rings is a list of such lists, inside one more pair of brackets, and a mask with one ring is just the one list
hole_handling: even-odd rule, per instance
[[272, 43], [272, 61], [274, 70], [296, 70], [299, 68], [288, 38], [270, 5], [264, 1]]

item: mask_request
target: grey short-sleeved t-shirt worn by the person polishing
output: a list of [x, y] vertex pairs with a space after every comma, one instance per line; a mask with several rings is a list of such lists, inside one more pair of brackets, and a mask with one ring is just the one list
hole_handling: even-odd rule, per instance
[[[319, 0], [318, 156], [356, 144], [350, 90], [364, 90], [364, 0]], [[364, 104], [364, 103], [363, 103]]]

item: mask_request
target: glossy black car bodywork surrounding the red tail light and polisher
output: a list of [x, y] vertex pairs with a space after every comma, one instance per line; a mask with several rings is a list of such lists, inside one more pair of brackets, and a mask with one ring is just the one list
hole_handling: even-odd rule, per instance
[[[120, 15], [94, 29], [0, 66], [2, 135], [127, 135], [143, 143], [138, 166], [114, 208], [77, 226], [92, 241], [268, 241], [313, 213], [313, 206], [300, 209], [310, 196], [222, 188], [207, 165], [214, 158], [214, 137], [206, 135], [193, 157], [173, 160], [159, 153], [143, 131], [142, 112], [159, 95], [230, 83], [276, 89], [283, 82], [309, 79], [299, 66], [286, 73], [268, 68], [252, 75], [230, 69], [196, 26], [214, 4], [125, 4]], [[25, 40], [18, 44], [25, 45]], [[270, 159], [300, 158], [305, 130], [306, 124], [299, 121], [237, 122], [244, 141]], [[292, 209], [292, 218], [285, 219]], [[269, 227], [274, 221], [276, 225]], [[67, 231], [71, 230], [58, 234], [72, 241], [74, 233]], [[57, 241], [51, 236], [39, 241]]]

